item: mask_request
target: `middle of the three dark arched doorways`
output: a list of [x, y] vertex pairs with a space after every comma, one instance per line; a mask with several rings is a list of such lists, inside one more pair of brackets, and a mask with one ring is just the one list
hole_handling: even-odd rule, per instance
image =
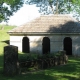
[[50, 53], [50, 39], [48, 37], [43, 38], [42, 52], [43, 52], [43, 54]]

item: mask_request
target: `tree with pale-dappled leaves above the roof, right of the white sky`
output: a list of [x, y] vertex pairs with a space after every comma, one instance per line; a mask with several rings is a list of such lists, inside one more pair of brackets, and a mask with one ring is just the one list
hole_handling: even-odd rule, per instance
[[80, 0], [27, 0], [27, 4], [36, 4], [42, 14], [79, 14]]

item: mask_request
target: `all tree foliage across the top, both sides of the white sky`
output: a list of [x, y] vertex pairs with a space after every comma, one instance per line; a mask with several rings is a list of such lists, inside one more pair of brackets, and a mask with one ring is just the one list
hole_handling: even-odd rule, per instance
[[79, 19], [80, 0], [0, 0], [0, 22], [7, 21], [24, 4], [36, 4], [41, 14], [73, 13]]

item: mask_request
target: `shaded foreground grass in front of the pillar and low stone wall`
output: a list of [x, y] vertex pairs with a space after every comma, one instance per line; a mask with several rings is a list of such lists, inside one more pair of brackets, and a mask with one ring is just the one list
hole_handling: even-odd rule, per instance
[[54, 66], [49, 69], [20, 74], [14, 77], [0, 74], [2, 80], [80, 80], [80, 58], [69, 57], [66, 65]]

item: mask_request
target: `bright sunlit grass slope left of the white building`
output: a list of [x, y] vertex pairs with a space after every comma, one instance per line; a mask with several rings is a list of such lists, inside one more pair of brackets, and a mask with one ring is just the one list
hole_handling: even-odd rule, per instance
[[12, 28], [14, 28], [15, 26], [5, 26], [4, 25], [4, 29], [1, 30], [1, 25], [0, 25], [0, 55], [3, 54], [3, 48], [4, 46], [6, 46], [7, 44], [5, 43], [5, 41], [9, 40], [9, 34], [7, 33], [9, 30], [11, 30]]

